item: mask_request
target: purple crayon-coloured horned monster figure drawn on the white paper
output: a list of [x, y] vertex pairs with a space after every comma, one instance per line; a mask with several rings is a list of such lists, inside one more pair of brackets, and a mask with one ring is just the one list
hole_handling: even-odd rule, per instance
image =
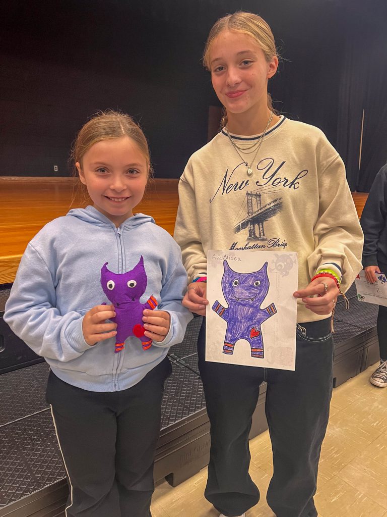
[[261, 325], [277, 313], [271, 303], [261, 309], [261, 303], [269, 291], [267, 262], [259, 271], [238, 273], [233, 271], [227, 261], [223, 261], [222, 291], [229, 307], [223, 307], [218, 300], [212, 309], [227, 322], [223, 354], [232, 355], [234, 345], [239, 339], [250, 343], [251, 357], [264, 357]]

